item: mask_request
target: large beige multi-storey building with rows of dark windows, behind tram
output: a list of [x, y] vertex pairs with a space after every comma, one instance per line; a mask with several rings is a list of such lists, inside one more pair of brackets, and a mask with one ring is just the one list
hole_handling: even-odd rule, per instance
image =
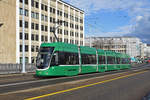
[[[0, 63], [22, 60], [22, 6], [22, 0], [0, 0]], [[35, 62], [42, 42], [56, 41], [58, 25], [60, 42], [84, 45], [84, 11], [61, 0], [25, 0], [24, 7], [26, 62]]]

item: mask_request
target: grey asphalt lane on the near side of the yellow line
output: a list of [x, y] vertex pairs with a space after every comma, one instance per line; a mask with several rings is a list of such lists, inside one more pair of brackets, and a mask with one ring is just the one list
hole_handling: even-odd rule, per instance
[[40, 100], [141, 100], [150, 91], [150, 72], [91, 87], [41, 97]]

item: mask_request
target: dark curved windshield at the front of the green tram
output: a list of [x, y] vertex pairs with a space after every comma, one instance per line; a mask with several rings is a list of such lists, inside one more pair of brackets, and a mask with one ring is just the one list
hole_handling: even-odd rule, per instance
[[41, 47], [37, 55], [36, 67], [45, 69], [49, 66], [54, 47]]

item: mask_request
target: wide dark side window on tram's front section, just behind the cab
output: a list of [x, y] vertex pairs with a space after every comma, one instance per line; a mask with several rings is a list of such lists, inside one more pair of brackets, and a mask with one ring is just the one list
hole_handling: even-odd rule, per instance
[[58, 63], [60, 65], [74, 65], [74, 64], [79, 64], [78, 53], [58, 52]]

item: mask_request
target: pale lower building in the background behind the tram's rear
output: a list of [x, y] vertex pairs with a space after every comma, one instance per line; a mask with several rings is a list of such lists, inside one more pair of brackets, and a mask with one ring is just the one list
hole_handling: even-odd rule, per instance
[[[141, 40], [136, 37], [91, 37], [85, 38], [85, 45], [99, 49], [141, 56]], [[143, 52], [143, 51], [142, 51]]]

